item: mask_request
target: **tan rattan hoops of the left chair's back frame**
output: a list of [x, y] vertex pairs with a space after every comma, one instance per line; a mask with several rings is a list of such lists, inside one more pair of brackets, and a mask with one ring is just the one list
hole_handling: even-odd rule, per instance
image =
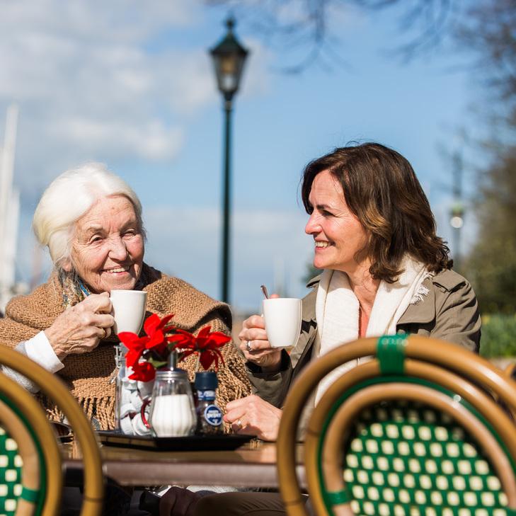
[[[54, 374], [48, 372], [33, 362], [33, 360], [21, 355], [21, 353], [0, 345], [0, 364], [23, 374], [31, 382], [37, 384], [45, 396], [59, 405], [69, 425], [74, 430], [74, 438], [78, 442], [83, 455], [84, 495], [80, 516], [96, 516], [100, 514], [104, 495], [104, 476], [100, 445], [81, 406], [71, 396], [69, 389], [67, 389], [67, 386], [61, 379], [55, 377]], [[1, 391], [4, 391], [7, 396], [12, 396], [18, 403], [19, 410], [35, 430], [39, 428], [38, 425], [43, 424], [40, 415], [45, 419], [45, 424], [50, 425], [40, 404], [16, 382], [8, 378], [1, 379], [1, 388]], [[35, 410], [34, 404], [38, 410]], [[40, 438], [42, 439], [44, 453], [48, 445], [49, 449], [57, 448], [60, 457], [54, 433], [52, 433], [53, 445], [50, 444], [47, 437], [45, 437], [45, 440], [43, 440], [43, 435]], [[46, 466], [52, 468], [51, 462], [47, 462]], [[60, 509], [62, 488], [61, 486], [47, 486], [47, 488], [50, 491], [47, 491], [47, 500], [45, 500], [42, 508], [42, 516], [54, 516], [57, 515]]]

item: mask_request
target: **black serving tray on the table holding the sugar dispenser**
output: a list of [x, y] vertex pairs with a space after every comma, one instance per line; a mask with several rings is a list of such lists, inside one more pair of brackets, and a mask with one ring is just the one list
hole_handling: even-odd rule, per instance
[[152, 437], [150, 435], [125, 435], [117, 430], [99, 430], [97, 435], [105, 446], [149, 449], [156, 452], [227, 451], [241, 447], [256, 438], [255, 435], [240, 434]]

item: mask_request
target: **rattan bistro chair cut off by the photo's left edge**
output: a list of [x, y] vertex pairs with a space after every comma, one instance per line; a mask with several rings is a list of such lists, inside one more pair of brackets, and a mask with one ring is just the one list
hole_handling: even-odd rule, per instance
[[[84, 461], [81, 516], [100, 515], [104, 491], [101, 454], [81, 406], [59, 378], [3, 345], [0, 365], [37, 384], [64, 413]], [[0, 515], [58, 515], [62, 486], [62, 454], [45, 410], [32, 394], [0, 373]]]

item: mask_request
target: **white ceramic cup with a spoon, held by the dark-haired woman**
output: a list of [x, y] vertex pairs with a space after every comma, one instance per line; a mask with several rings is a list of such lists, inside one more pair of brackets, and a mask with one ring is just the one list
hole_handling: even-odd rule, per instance
[[265, 331], [273, 348], [289, 348], [297, 343], [301, 331], [301, 299], [272, 297], [263, 299]]

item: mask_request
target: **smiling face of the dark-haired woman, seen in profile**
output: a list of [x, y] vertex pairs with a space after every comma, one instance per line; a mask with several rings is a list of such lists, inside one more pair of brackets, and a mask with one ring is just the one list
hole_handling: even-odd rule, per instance
[[355, 254], [367, 244], [367, 231], [348, 208], [342, 186], [329, 171], [314, 178], [309, 202], [313, 209], [304, 228], [314, 237], [314, 266], [352, 274], [369, 268], [369, 260], [357, 262]]

